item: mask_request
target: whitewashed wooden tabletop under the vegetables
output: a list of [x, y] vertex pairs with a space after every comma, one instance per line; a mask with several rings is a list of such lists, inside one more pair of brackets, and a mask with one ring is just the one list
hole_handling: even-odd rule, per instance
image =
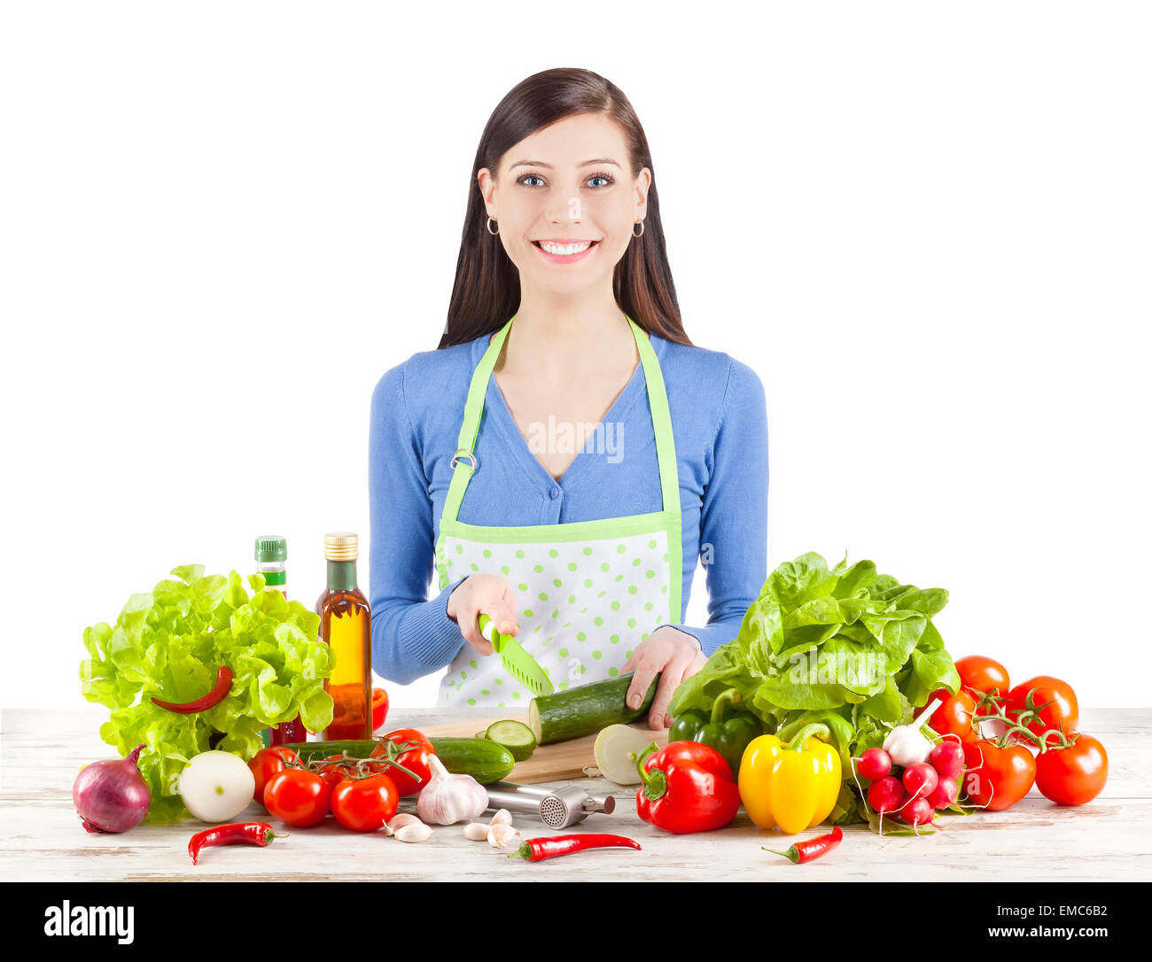
[[[479, 718], [484, 711], [397, 710], [389, 726]], [[429, 841], [406, 844], [382, 832], [346, 832], [327, 819], [316, 828], [291, 828], [265, 849], [211, 849], [194, 866], [188, 839], [204, 827], [195, 819], [119, 835], [81, 827], [71, 783], [81, 765], [112, 757], [98, 734], [106, 719], [94, 707], [0, 713], [0, 880], [1152, 880], [1152, 709], [1084, 710], [1083, 730], [1104, 743], [1111, 768], [1104, 793], [1087, 805], [1060, 808], [1033, 789], [1007, 811], [946, 818], [942, 831], [924, 838], [879, 838], [851, 826], [835, 853], [803, 868], [763, 851], [787, 848], [794, 839], [757, 828], [743, 811], [718, 832], [669, 835], [641, 821], [635, 789], [607, 779], [581, 785], [613, 794], [616, 811], [566, 831], [628, 835], [643, 851], [529, 864], [465, 840], [461, 825], [434, 827]], [[271, 820], [255, 803], [237, 820], [244, 818]], [[518, 816], [516, 826], [528, 836], [552, 834], [528, 816]]]

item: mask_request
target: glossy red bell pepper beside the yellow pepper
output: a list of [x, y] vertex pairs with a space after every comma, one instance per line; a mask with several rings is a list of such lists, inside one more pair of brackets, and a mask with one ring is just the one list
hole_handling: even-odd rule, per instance
[[699, 742], [655, 742], [636, 762], [644, 785], [636, 813], [665, 832], [710, 832], [736, 817], [740, 789], [732, 766], [714, 748]]

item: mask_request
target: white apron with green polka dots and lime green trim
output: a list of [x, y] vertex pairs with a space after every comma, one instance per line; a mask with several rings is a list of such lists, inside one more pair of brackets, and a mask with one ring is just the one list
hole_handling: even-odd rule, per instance
[[[500, 575], [516, 597], [516, 639], [556, 690], [617, 675], [632, 650], [661, 624], [681, 618], [680, 480], [672, 416], [660, 363], [632, 321], [660, 470], [662, 510], [652, 514], [500, 528], [457, 518], [469, 480], [483, 470], [473, 454], [488, 380], [513, 317], [492, 339], [472, 374], [440, 516], [437, 571], [440, 589], [473, 574]], [[526, 707], [531, 692], [509, 675], [499, 656], [464, 644], [440, 681], [439, 700], [454, 705]]]

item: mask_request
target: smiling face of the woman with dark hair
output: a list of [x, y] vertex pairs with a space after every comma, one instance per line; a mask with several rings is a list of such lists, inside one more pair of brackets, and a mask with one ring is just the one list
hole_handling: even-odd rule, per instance
[[632, 226], [644, 218], [652, 174], [632, 177], [623, 131], [576, 114], [525, 137], [477, 174], [521, 287], [558, 294], [612, 286]]

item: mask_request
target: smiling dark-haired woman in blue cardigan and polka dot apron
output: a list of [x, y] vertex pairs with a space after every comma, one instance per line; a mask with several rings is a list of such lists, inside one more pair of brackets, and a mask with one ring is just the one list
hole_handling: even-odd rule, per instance
[[441, 703], [526, 706], [484, 613], [558, 689], [635, 672], [637, 707], [659, 674], [659, 729], [766, 577], [763, 388], [684, 333], [647, 141], [615, 85], [523, 81], [472, 172], [440, 349], [372, 397], [373, 668], [407, 684], [447, 666]]

